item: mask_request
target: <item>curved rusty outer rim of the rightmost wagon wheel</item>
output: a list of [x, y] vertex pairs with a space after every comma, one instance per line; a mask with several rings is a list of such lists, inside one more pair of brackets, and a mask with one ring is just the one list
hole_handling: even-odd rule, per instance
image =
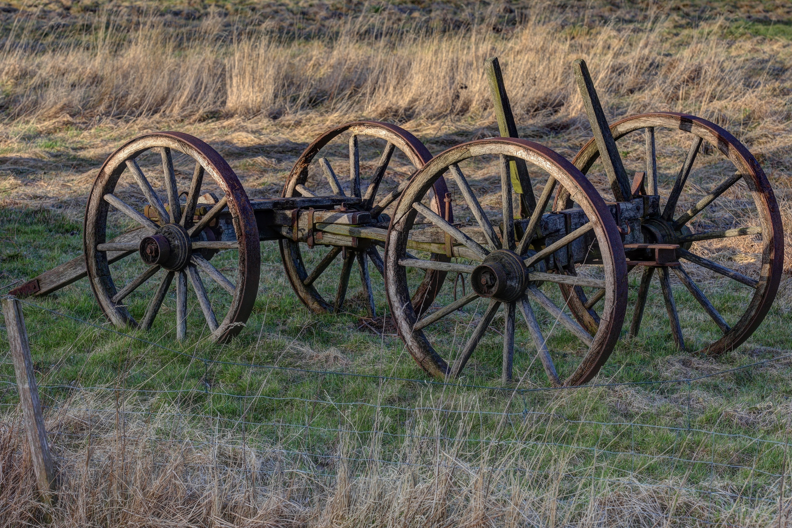
[[[725, 351], [739, 347], [756, 331], [775, 300], [783, 272], [784, 252], [783, 226], [779, 206], [770, 182], [753, 154], [737, 138], [717, 124], [690, 114], [651, 112], [630, 116], [613, 123], [611, 133], [615, 140], [619, 140], [625, 135], [645, 127], [663, 127], [686, 131], [710, 142], [729, 161], [732, 161], [737, 169], [742, 169], [743, 180], [748, 184], [748, 188], [754, 196], [754, 202], [760, 214], [764, 241], [759, 286], [737, 324], [721, 339], [699, 350], [700, 353], [708, 355], [721, 355]], [[599, 157], [600, 152], [596, 148], [596, 142], [594, 139], [590, 139], [578, 151], [573, 164], [580, 168], [581, 172], [587, 173]], [[760, 196], [761, 201], [757, 200], [757, 196]]]

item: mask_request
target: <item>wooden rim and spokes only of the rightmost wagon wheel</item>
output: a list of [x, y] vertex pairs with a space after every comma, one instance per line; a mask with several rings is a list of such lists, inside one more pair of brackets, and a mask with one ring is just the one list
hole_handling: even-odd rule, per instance
[[[752, 193], [754, 203], [756, 203], [756, 213], [759, 216], [761, 235], [763, 237], [762, 263], [758, 273], [758, 280], [746, 280], [740, 274], [737, 274], [739, 276], [729, 274], [730, 270], [726, 268], [718, 268], [718, 264], [713, 265], [706, 259], [702, 260], [700, 257], [697, 259], [695, 254], [691, 255], [691, 253], [685, 249], [686, 245], [689, 247], [689, 241], [687, 241], [687, 239], [680, 234], [682, 226], [687, 224], [690, 218], [684, 214], [678, 216], [677, 218], [673, 218], [673, 213], [676, 209], [676, 199], [675, 203], [673, 203], [674, 207], [671, 207], [667, 213], [669, 215], [669, 218], [667, 218], [668, 222], [672, 222], [674, 226], [676, 226], [676, 239], [666, 240], [666, 242], [680, 243], [680, 245], [683, 245], [683, 249], [680, 250], [680, 256], [683, 260], [687, 260], [684, 264], [691, 263], [703, 265], [704, 267], [708, 267], [720, 275], [729, 276], [737, 283], [751, 285], [753, 285], [753, 282], [756, 283], [756, 291], [752, 296], [751, 302], [745, 307], [745, 311], [740, 317], [739, 321], [729, 328], [728, 326], [724, 326], [722, 317], [719, 319], [717, 311], [713, 312], [714, 308], [712, 306], [707, 306], [708, 302], [706, 301], [706, 297], [704, 297], [703, 294], [698, 291], [698, 287], [696, 287], [695, 284], [691, 285], [690, 278], [686, 277], [687, 273], [685, 273], [683, 269], [681, 272], [677, 273], [682, 283], [689, 291], [691, 291], [691, 294], [694, 295], [699, 303], [702, 304], [703, 309], [710, 314], [710, 317], [712, 317], [715, 323], [721, 327], [722, 331], [725, 329], [725, 332], [723, 332], [723, 336], [720, 339], [714, 341], [713, 343], [707, 344], [700, 350], [702, 353], [720, 355], [725, 351], [730, 351], [737, 348], [740, 344], [747, 340], [749, 336], [752, 335], [752, 333], [759, 327], [764, 317], [767, 315], [767, 312], [770, 310], [772, 302], [775, 299], [775, 294], [776, 291], [778, 291], [779, 282], [782, 275], [784, 252], [782, 222], [778, 203], [775, 201], [775, 196], [770, 183], [768, 182], [767, 177], [765, 176], [759, 163], [756, 161], [756, 158], [754, 158], [748, 149], [745, 148], [745, 146], [733, 135], [729, 134], [729, 132], [725, 131], [722, 127], [718, 127], [718, 125], [711, 123], [710, 121], [704, 120], [700, 117], [676, 112], [653, 112], [639, 116], [631, 116], [624, 120], [620, 120], [618, 123], [614, 123], [611, 125], [611, 133], [614, 139], [618, 141], [631, 132], [642, 129], [652, 129], [651, 141], [653, 145], [654, 128], [668, 128], [685, 131], [697, 138], [700, 138], [703, 141], [708, 142], [711, 146], [714, 146], [714, 148], [719, 150], [726, 158], [728, 158], [737, 169], [738, 177], [736, 179], [729, 179], [729, 177], [726, 177], [724, 185], [722, 185], [723, 190], [725, 191], [725, 189], [728, 188], [730, 184], [736, 183], [736, 181], [740, 179], [739, 175], [741, 175], [741, 179], [744, 180], [745, 184], [748, 185], [748, 189]], [[699, 145], [700, 141], [696, 140], [694, 145], [691, 146], [691, 152], [693, 153], [691, 163], [695, 158], [695, 152], [698, 151]], [[649, 169], [651, 170], [652, 163], [656, 163], [656, 161], [651, 158], [651, 155], [648, 154], [648, 156]], [[688, 156], [690, 157], [690, 154], [688, 154]], [[573, 160], [573, 164], [578, 169], [581, 169], [582, 173], [588, 173], [588, 170], [591, 169], [592, 165], [599, 157], [600, 152], [597, 150], [596, 142], [594, 139], [591, 139], [577, 153]], [[687, 167], [687, 169], [689, 170], [689, 167]], [[683, 192], [684, 189], [683, 184], [684, 180], [680, 185], [678, 185], [678, 189], [672, 190], [672, 195], [676, 195], [676, 197], [680, 196], [680, 193]], [[714, 192], [717, 192], [718, 189], [719, 188], [716, 188]], [[565, 196], [562, 196], [562, 194], [559, 193], [556, 202], [557, 206], [563, 199], [565, 199]], [[748, 228], [748, 230], [743, 231], [732, 230], [731, 233], [718, 234], [718, 237], [735, 235], [739, 236], [740, 234], [756, 234], [755, 231], [756, 230], [752, 230], [752, 228]], [[699, 237], [700, 236], [703, 235], [699, 234]], [[648, 281], [651, 279], [651, 275], [647, 273], [645, 273], [645, 275], [648, 275], [648, 277], [645, 277], [642, 282], [646, 283], [645, 291], [648, 291]], [[665, 279], [663, 277], [661, 277], [661, 279], [664, 283]], [[670, 296], [670, 294], [668, 296]], [[573, 302], [570, 302], [570, 307], [573, 308], [576, 316], [579, 319], [586, 317], [588, 313], [584, 311], [584, 309], [581, 310], [581, 302], [578, 302], [579, 299], [575, 299], [574, 296], [572, 296], [571, 300]], [[642, 313], [642, 304], [640, 305], [640, 311]], [[638, 316], [634, 318], [633, 328], [631, 329], [632, 333], [638, 331], [641, 313], [638, 313]], [[669, 313], [671, 313], [670, 310]], [[676, 336], [676, 332], [675, 337], [680, 341], [682, 339], [681, 334]], [[681, 343], [683, 344], [683, 341], [681, 341]]]

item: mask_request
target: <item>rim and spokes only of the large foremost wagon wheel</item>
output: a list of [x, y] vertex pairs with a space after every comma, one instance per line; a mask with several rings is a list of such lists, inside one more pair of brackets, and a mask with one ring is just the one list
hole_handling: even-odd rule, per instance
[[[493, 226], [497, 226], [497, 224], [490, 222], [489, 218], [486, 218], [488, 214], [478, 203], [478, 199], [475, 198], [470, 186], [466, 184], [465, 177], [457, 165], [460, 161], [468, 158], [493, 154], [496, 156], [500, 155], [501, 160], [501, 206], [503, 208], [502, 218], [506, 219], [506, 227], [503, 231], [505, 236], [497, 235], [497, 229], [493, 230]], [[539, 169], [543, 169], [543, 171], [548, 173], [550, 177], [542, 196], [538, 199], [539, 204], [535, 211], [539, 212], [532, 216], [531, 224], [528, 224], [525, 229], [526, 233], [535, 233], [535, 229], [531, 225], [536, 226], [536, 222], [539, 222], [541, 211], [544, 211], [548, 200], [551, 198], [554, 182], [569, 190], [575, 201], [581, 204], [581, 208], [588, 218], [584, 225], [565, 235], [560, 240], [547, 245], [544, 249], [539, 244], [539, 239], [535, 239], [532, 236], [525, 236], [518, 243], [513, 237], [513, 229], [510, 229], [513, 222], [510, 220], [510, 218], [513, 218], [513, 211], [508, 163], [513, 158], [522, 159], [538, 166]], [[432, 185], [447, 171], [455, 176], [461, 192], [465, 196], [467, 203], [469, 203], [471, 215], [477, 218], [478, 225], [481, 228], [480, 233], [482, 233], [481, 241], [484, 242], [486, 247], [479, 242], [466, 240], [463, 234], [459, 234], [452, 229], [453, 226], [447, 225], [447, 222], [444, 224], [442, 218], [438, 219], [432, 216], [428, 209], [421, 205], [421, 201], [425, 200]], [[532, 180], [536, 180], [536, 178], [532, 178]], [[509, 199], [504, 199], [505, 196], [509, 197]], [[535, 196], [539, 195], [535, 193]], [[430, 331], [430, 325], [442, 317], [447, 317], [447, 315], [464, 306], [466, 302], [471, 302], [479, 294], [478, 291], [474, 291], [473, 294], [468, 295], [466, 298], [458, 299], [428, 315], [417, 313], [413, 309], [413, 303], [410, 302], [406, 267], [426, 268], [432, 265], [425, 264], [427, 262], [425, 260], [406, 259], [408, 242], [411, 235], [415, 233], [413, 224], [419, 212], [425, 218], [428, 218], [429, 221], [435, 223], [436, 226], [456, 237], [464, 245], [462, 248], [464, 253], [462, 251], [459, 251], [459, 253], [474, 261], [472, 265], [445, 264], [449, 267], [449, 271], [472, 273], [471, 277], [476, 277], [478, 272], [474, 270], [480, 271], [483, 269], [482, 264], [475, 265], [477, 260], [481, 260], [480, 255], [482, 254], [486, 254], [485, 264], [488, 260], [496, 258], [493, 257], [495, 255], [499, 259], [502, 258], [506, 264], [514, 262], [514, 256], [518, 256], [524, 259], [524, 264], [527, 266], [529, 279], [526, 280], [529, 282], [519, 283], [512, 290], [507, 288], [505, 291], [511, 291], [511, 294], [499, 293], [490, 297], [488, 309], [453, 364], [448, 363], [448, 359], [450, 359], [448, 356], [449, 351], [444, 353], [432, 344], [431, 337], [427, 335]], [[490, 213], [490, 215], [493, 214]], [[604, 268], [604, 280], [578, 279], [567, 275], [539, 271], [545, 256], [550, 256], [551, 253], [564, 249], [567, 245], [572, 244], [589, 232], [593, 232], [596, 238]], [[529, 249], [529, 245], [532, 245], [532, 243], [539, 245], [539, 247], [535, 247], [533, 250]], [[511, 365], [514, 351], [515, 320], [516, 312], [520, 311], [524, 315], [527, 329], [531, 333], [531, 339], [538, 352], [539, 359], [542, 360], [550, 384], [554, 386], [574, 386], [588, 382], [597, 374], [600, 367], [607, 361], [616, 341], [619, 339], [627, 293], [626, 264], [623, 258], [619, 258], [621, 255], [623, 255], [622, 242], [615, 221], [607, 206], [592, 184], [569, 161], [545, 146], [524, 139], [482, 139], [454, 146], [439, 154], [432, 161], [429, 161], [410, 181], [390, 222], [386, 247], [385, 286], [390, 310], [394, 314], [394, 319], [397, 323], [398, 333], [402, 336], [402, 340], [405, 341], [410, 354], [413, 355], [416, 362], [429, 374], [439, 378], [459, 375], [467, 359], [470, 358], [470, 355], [478, 345], [478, 341], [487, 332], [489, 323], [502, 303], [505, 306], [506, 321], [503, 333], [503, 379], [508, 381], [512, 376]], [[520, 272], [515, 273], [516, 275], [513, 275], [513, 277], [520, 276]], [[481, 284], [485, 284], [489, 280], [485, 279], [484, 275], [478, 276], [482, 277]], [[535, 279], [530, 279], [531, 276], [535, 277]], [[512, 275], [509, 275], [509, 277], [512, 277]], [[513, 277], [508, 280], [512, 280]], [[581, 283], [588, 286], [593, 283], [604, 288], [606, 291], [604, 295], [604, 313], [607, 315], [602, 317], [599, 329], [593, 338], [588, 336], [584, 329], [577, 325], [569, 316], [565, 316], [560, 307], [556, 306], [549, 298], [546, 298], [538, 288], [539, 283], [536, 282], [536, 279], [539, 277], [541, 277], [542, 281]], [[471, 286], [476, 287], [476, 284], [474, 279], [471, 279]], [[497, 295], [506, 296], [497, 297]], [[515, 295], [516, 297], [512, 298]], [[498, 301], [499, 298], [503, 300]], [[546, 348], [546, 342], [542, 337], [539, 323], [533, 315], [529, 300], [535, 302], [537, 309], [541, 308], [550, 313], [551, 318], [554, 318], [560, 325], [568, 329], [573, 336], [576, 336], [588, 348], [584, 358], [566, 379], [558, 378], [558, 374], [554, 369], [552, 355]], [[422, 315], [424, 317], [421, 317]]]

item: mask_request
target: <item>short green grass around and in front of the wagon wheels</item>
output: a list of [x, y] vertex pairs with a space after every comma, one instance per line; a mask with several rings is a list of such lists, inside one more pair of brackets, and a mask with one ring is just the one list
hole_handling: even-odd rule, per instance
[[[3, 209], [0, 226], [13, 240], [12, 245], [6, 244], [0, 257], [6, 282], [35, 275], [81, 250], [78, 223], [55, 212]], [[743, 494], [752, 496], [767, 493], [775, 482], [762, 472], [781, 471], [783, 451], [779, 446], [695, 430], [785, 440], [788, 398], [792, 393], [788, 361], [691, 383], [536, 391], [512, 398], [511, 391], [497, 389], [501, 387], [499, 344], [494, 338], [487, 338], [460, 385], [432, 385], [397, 337], [360, 331], [356, 317], [310, 313], [288, 287], [276, 245], [264, 243], [261, 249], [261, 287], [253, 315], [246, 329], [230, 344], [211, 344], [199, 337], [206, 332], [197, 310], [192, 310], [188, 319], [188, 341], [179, 343], [173, 339], [173, 325], [167, 318], [166, 323], [158, 322], [151, 332], [122, 330], [129, 336], [126, 337], [25, 306], [36, 372], [40, 384], [48, 387], [43, 389], [44, 404], [76, 408], [84, 405], [81, 401], [93, 398], [112, 409], [113, 394], [116, 389], [124, 389], [128, 392], [122, 393], [122, 405], [129, 408], [154, 415], [177, 410], [208, 416], [219, 427], [233, 431], [238, 431], [238, 420], [244, 418], [249, 423], [249, 442], [262, 446], [277, 443], [285, 450], [316, 455], [337, 450], [339, 428], [357, 431], [354, 444], [359, 449], [367, 445], [366, 431], [379, 429], [386, 433], [381, 454], [386, 460], [398, 458], [400, 446], [406, 442], [404, 435], [421, 428], [414, 420], [424, 424], [437, 420], [432, 412], [410, 410], [428, 406], [457, 411], [446, 413], [441, 421], [449, 436], [462, 431], [466, 442], [459, 456], [471, 463], [482, 456], [482, 450], [493, 439], [520, 440], [520, 453], [524, 456], [547, 445], [566, 446], [558, 448], [558, 456], [565, 453], [571, 457], [566, 469], [569, 478], [576, 472], [585, 474], [592, 463], [600, 460], [603, 477], [631, 474], [649, 482], [681, 478], [687, 473], [685, 478], [691, 483], [717, 477], [718, 481], [740, 488], [750, 482], [751, 491]], [[636, 281], [636, 277], [631, 278], [633, 292]], [[350, 291], [354, 287], [353, 283]], [[378, 292], [379, 298], [381, 293]], [[723, 310], [744, 302], [735, 292], [709, 294]], [[790, 316], [785, 310], [775, 309], [738, 351], [718, 359], [680, 355], [672, 347], [662, 302], [657, 292], [654, 295], [656, 300], [647, 306], [642, 335], [620, 342], [593, 383], [695, 377], [769, 359], [792, 348], [786, 332], [777, 331], [788, 328]], [[111, 328], [85, 280], [32, 302]], [[355, 302], [352, 298], [353, 306]], [[677, 302], [680, 313], [685, 313], [686, 306], [694, 301], [679, 294]], [[166, 301], [163, 313], [173, 313], [173, 299]], [[695, 336], [703, 338], [705, 334], [699, 332]], [[564, 332], [552, 339], [557, 349], [566, 346], [570, 355], [575, 354], [573, 341]], [[527, 341], [527, 335], [518, 332], [518, 347]], [[7, 353], [5, 341], [0, 351]], [[518, 375], [524, 374], [530, 359], [527, 353], [518, 353]], [[251, 368], [247, 364], [265, 367]], [[557, 365], [564, 370], [565, 359], [559, 358]], [[7, 360], [0, 372], [6, 381], [13, 380], [13, 369]], [[526, 374], [523, 386], [546, 386], [535, 364]], [[86, 390], [89, 387], [96, 389]], [[512, 386], [505, 388], [508, 387]], [[15, 402], [13, 393], [3, 393], [0, 401], [10, 411]], [[344, 405], [348, 402], [357, 403]], [[498, 413], [504, 411], [516, 413], [509, 420], [512, 425], [505, 428], [498, 426]], [[51, 412], [56, 412], [55, 408]], [[204, 419], [188, 420], [200, 425]], [[163, 430], [158, 434], [168, 433]], [[493, 438], [496, 434], [497, 438]], [[495, 453], [505, 456], [510, 450], [508, 443], [499, 443]], [[596, 458], [598, 451], [600, 459]], [[675, 458], [699, 463], [684, 464]], [[639, 473], [633, 473], [636, 471]]]

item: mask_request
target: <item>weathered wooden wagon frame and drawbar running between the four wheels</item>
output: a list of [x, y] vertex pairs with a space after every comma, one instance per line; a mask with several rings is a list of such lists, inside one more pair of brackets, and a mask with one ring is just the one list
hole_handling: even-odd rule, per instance
[[[360, 206], [360, 203], [361, 199], [348, 196], [250, 200], [260, 241], [288, 239], [307, 243], [310, 238], [313, 238], [311, 243], [316, 245], [348, 248], [363, 248], [370, 244], [384, 246], [387, 240], [387, 224], [373, 222], [367, 211], [357, 211], [356, 207]], [[619, 220], [620, 227], [626, 233], [625, 244], [643, 242], [643, 238], [640, 237], [641, 218], [646, 214], [646, 211], [649, 214], [656, 213], [657, 207], [656, 196], [643, 196], [630, 200], [630, 202], [608, 204], [611, 215], [614, 219]], [[517, 237], [524, 234], [528, 222], [527, 218], [514, 222]], [[546, 213], [542, 216], [537, 231], [542, 234], [544, 245], [551, 245], [577, 230], [586, 222], [588, 222], [588, 218], [584, 211], [573, 207], [564, 211]], [[102, 245], [102, 249], [107, 252], [109, 262], [113, 263], [132, 253], [139, 252], [138, 241], [144, 230], [143, 227], [136, 228]], [[227, 208], [219, 214], [218, 226], [215, 230], [218, 235], [216, 241], [211, 244], [200, 241], [193, 242], [191, 248], [236, 248], [232, 217]], [[479, 244], [485, 242], [484, 232], [481, 228], [463, 227], [460, 230]], [[592, 253], [588, 249], [589, 245], [591, 245], [590, 237], [578, 238], [570, 245], [565, 246], [565, 249], [550, 253], [545, 259], [546, 268], [554, 269], [568, 264], [570, 261], [577, 263], [596, 261], [597, 253], [596, 251]], [[462, 242], [452, 240], [449, 244], [445, 232], [439, 228], [422, 230], [420, 235], [413, 237], [408, 247], [447, 256], [463, 258], [472, 256], [470, 249]], [[444, 266], [438, 262], [437, 269], [453, 271], [453, 264]], [[379, 272], [383, 273], [383, 270], [379, 269]], [[79, 279], [84, 279], [86, 275], [86, 260], [85, 256], [81, 255], [37, 275], [9, 293], [20, 297], [42, 296], [58, 291]], [[569, 283], [576, 283], [576, 280], [577, 283], [584, 282], [584, 279], [570, 278]]]

